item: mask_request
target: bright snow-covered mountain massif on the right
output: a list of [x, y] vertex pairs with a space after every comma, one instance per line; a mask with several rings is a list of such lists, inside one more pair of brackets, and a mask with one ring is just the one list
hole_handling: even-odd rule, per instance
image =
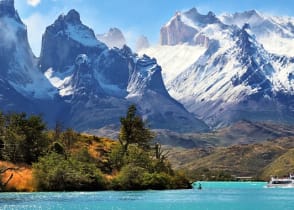
[[294, 59], [291, 45], [281, 47], [293, 41], [293, 25], [255, 10], [216, 16], [192, 8], [139, 54], [156, 57], [169, 94], [213, 129], [240, 120], [293, 124]]

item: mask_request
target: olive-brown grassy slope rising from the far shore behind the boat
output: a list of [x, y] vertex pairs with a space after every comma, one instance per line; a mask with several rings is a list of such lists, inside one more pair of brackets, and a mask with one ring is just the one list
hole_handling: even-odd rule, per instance
[[237, 176], [267, 179], [269, 174], [294, 172], [292, 148], [294, 137], [208, 149], [170, 148], [169, 160], [178, 169], [193, 171], [208, 168]]

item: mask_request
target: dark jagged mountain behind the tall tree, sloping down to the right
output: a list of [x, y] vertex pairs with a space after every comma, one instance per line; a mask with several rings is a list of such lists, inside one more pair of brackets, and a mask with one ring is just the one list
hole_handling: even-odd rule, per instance
[[202, 131], [207, 126], [172, 99], [155, 59], [127, 46], [109, 49], [76, 11], [60, 16], [43, 36], [40, 67], [68, 103], [64, 118], [78, 129], [119, 123], [135, 103], [151, 127]]

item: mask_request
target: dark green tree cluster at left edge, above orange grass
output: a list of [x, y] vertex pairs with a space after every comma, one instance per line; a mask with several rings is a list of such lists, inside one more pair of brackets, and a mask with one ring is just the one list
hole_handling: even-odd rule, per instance
[[0, 119], [4, 160], [31, 164], [45, 154], [49, 142], [45, 135], [46, 125], [40, 116], [12, 113], [1, 114]]

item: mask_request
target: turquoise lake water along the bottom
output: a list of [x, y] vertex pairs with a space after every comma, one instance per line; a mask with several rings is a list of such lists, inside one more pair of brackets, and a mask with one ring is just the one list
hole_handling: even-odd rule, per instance
[[269, 189], [264, 182], [201, 185], [202, 190], [0, 193], [0, 209], [294, 209], [294, 189]]

